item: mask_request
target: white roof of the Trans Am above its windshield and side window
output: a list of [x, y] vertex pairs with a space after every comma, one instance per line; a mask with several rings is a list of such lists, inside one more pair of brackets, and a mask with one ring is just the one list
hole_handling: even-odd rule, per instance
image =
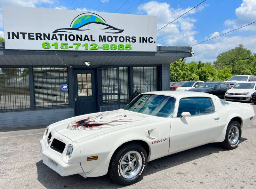
[[174, 97], [176, 99], [187, 98], [187, 97], [216, 98], [215, 95], [212, 95], [209, 93], [194, 92], [194, 91], [152, 91], [152, 92], [145, 92], [141, 94], [164, 95], [164, 96]]

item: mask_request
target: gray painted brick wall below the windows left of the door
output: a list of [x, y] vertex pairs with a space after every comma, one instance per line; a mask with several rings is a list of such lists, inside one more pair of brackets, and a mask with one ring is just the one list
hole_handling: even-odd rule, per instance
[[4, 112], [0, 114], [0, 128], [50, 125], [73, 116], [73, 108]]

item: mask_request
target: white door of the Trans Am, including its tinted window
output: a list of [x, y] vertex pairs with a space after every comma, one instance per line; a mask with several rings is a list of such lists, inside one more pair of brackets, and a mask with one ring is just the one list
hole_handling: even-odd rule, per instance
[[[191, 116], [182, 119], [182, 112], [189, 112]], [[219, 119], [220, 115], [215, 111], [212, 98], [180, 99], [177, 116], [171, 118], [169, 153], [214, 141], [223, 129]]]

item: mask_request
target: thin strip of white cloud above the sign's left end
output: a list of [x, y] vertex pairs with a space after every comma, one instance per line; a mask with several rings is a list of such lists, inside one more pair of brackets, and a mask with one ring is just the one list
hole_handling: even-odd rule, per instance
[[54, 4], [53, 0], [1, 0], [2, 5], [36, 7], [40, 4]]

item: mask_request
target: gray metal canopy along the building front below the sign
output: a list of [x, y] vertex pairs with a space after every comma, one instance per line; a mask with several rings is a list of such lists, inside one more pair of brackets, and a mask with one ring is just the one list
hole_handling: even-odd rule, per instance
[[[4, 43], [0, 45], [4, 46]], [[83, 65], [90, 61], [91, 66], [104, 65], [158, 65], [192, 56], [189, 46], [157, 47], [156, 52], [112, 52], [112, 51], [56, 51], [60, 59], [68, 65]], [[62, 65], [55, 51], [23, 51], [0, 49], [0, 65], [36, 66]]]

